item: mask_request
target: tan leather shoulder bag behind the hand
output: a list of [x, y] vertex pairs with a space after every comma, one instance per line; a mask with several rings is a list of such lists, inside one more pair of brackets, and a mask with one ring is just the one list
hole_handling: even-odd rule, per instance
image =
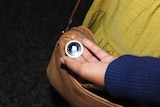
[[73, 27], [59, 38], [47, 67], [50, 83], [73, 107], [121, 107], [101, 97], [98, 94], [101, 91], [82, 87], [76, 76], [61, 64], [59, 58], [65, 55], [66, 43], [70, 40], [81, 41], [82, 38], [88, 38], [96, 43], [92, 32], [84, 26]]

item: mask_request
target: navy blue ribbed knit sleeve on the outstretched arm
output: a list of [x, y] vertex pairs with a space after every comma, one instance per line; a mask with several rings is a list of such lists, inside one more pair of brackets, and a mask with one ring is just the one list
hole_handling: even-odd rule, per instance
[[160, 104], [160, 59], [120, 56], [109, 64], [105, 87], [115, 98]]

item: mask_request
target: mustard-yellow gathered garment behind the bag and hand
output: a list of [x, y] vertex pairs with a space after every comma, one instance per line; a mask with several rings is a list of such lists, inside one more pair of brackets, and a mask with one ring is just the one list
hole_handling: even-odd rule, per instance
[[111, 55], [160, 57], [160, 0], [94, 0], [83, 25]]

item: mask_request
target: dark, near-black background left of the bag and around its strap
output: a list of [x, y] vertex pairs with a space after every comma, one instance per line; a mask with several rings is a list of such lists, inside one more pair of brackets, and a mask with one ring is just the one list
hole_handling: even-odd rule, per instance
[[[92, 0], [81, 0], [72, 26]], [[69, 107], [46, 76], [76, 0], [0, 1], [0, 107]]]

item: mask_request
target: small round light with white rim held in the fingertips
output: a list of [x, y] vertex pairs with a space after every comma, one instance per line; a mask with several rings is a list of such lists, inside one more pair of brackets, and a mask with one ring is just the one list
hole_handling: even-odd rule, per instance
[[81, 56], [83, 52], [83, 46], [79, 41], [71, 40], [66, 44], [65, 52], [69, 57], [77, 58]]

